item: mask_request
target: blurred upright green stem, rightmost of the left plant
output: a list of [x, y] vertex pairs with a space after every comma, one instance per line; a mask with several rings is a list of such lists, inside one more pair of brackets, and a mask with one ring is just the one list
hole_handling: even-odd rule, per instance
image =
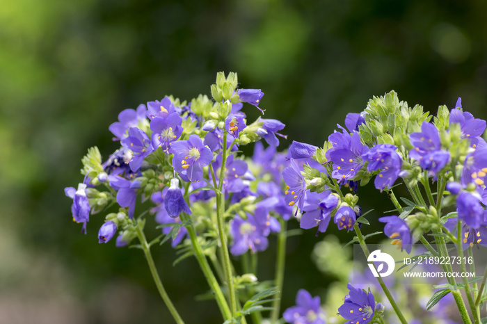
[[274, 277], [276, 278], [275, 285], [278, 287], [277, 290], [279, 292], [276, 293], [276, 300], [272, 302], [273, 309], [271, 311], [271, 323], [278, 323], [280, 314], [280, 299], [282, 295], [282, 283], [284, 282], [284, 270], [286, 263], [287, 222], [282, 218], [280, 218], [279, 221], [280, 232], [278, 234], [278, 256], [276, 259], [276, 274], [274, 275]]

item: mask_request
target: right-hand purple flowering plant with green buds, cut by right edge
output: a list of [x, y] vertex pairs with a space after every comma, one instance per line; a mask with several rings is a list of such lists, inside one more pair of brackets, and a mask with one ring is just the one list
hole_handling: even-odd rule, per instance
[[[460, 98], [452, 110], [440, 106], [437, 115], [430, 115], [422, 106], [411, 108], [399, 101], [392, 91], [371, 99], [362, 113], [346, 115], [345, 126], [337, 125], [323, 147], [298, 142], [289, 147], [290, 165], [282, 172], [285, 202], [294, 207], [301, 228], [318, 235], [333, 220], [338, 229], [354, 232], [350, 243], [360, 244], [368, 257], [367, 239], [381, 232], [362, 234], [372, 217], [362, 213], [358, 193], [374, 179], [374, 187], [394, 206], [392, 215], [378, 222], [401, 250], [410, 253], [418, 243], [426, 248], [425, 255], [447, 258], [451, 251], [446, 244], [452, 243], [463, 258], [472, 255], [475, 245], [487, 245], [487, 143], [481, 137], [486, 121], [463, 111]], [[406, 195], [398, 200], [394, 191]], [[461, 272], [467, 266], [461, 264]], [[450, 264], [442, 267], [452, 274]], [[474, 264], [469, 267], [474, 269]], [[480, 309], [487, 300], [487, 272], [458, 282], [445, 277], [447, 284], [436, 287], [428, 308], [449, 296], [463, 323], [485, 323]], [[408, 323], [383, 278], [376, 280], [397, 316], [394, 321]], [[384, 307], [375, 304], [372, 293], [351, 284], [348, 288], [338, 309], [346, 323], [383, 323]], [[296, 316], [301, 318], [301, 312]]]

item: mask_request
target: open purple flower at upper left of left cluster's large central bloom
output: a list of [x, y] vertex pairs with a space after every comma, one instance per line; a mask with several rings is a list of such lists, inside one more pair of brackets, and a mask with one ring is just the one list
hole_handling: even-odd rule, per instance
[[169, 145], [173, 143], [182, 134], [182, 118], [178, 113], [171, 113], [166, 118], [154, 117], [150, 121], [152, 133], [152, 147], [168, 151]]

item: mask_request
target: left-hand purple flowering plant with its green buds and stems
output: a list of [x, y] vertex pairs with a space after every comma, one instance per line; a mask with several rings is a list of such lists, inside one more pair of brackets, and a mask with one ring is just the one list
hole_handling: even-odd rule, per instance
[[[260, 323], [262, 311], [273, 322], [280, 317], [286, 221], [292, 216], [281, 177], [289, 159], [276, 151], [279, 138], [286, 137], [280, 133], [285, 125], [262, 117], [248, 122], [247, 109], [264, 113], [264, 93], [237, 89], [237, 84], [237, 74], [221, 72], [211, 86], [213, 99], [164, 97], [122, 111], [109, 127], [119, 144], [115, 152], [104, 160], [97, 147], [88, 149], [83, 181], [65, 188], [73, 200], [73, 220], [82, 224], [83, 233], [89, 232], [90, 216], [102, 213], [99, 243], [115, 241], [120, 248], [143, 250], [177, 323], [184, 323], [182, 316], [150, 252], [166, 241], [177, 249], [175, 263], [191, 256], [198, 260], [222, 322], [246, 323], [250, 316]], [[250, 143], [255, 143], [255, 154], [246, 158], [239, 148]], [[148, 211], [154, 218], [143, 209], [145, 201], [152, 204]], [[147, 240], [144, 229], [152, 225], [161, 234]], [[276, 278], [261, 282], [256, 254], [273, 237], [278, 241]], [[241, 259], [243, 273], [236, 273], [231, 255]]]

